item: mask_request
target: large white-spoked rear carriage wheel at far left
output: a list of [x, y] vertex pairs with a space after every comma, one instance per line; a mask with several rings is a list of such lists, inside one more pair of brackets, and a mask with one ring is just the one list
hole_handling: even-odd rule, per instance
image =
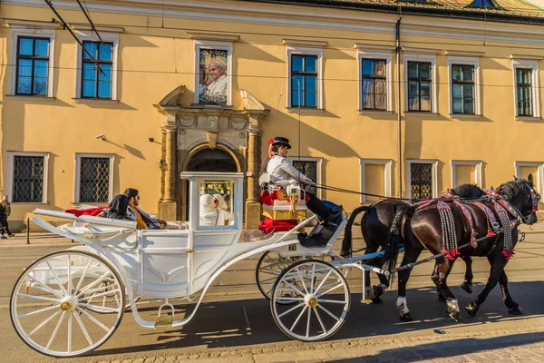
[[102, 257], [55, 252], [34, 261], [17, 280], [10, 300], [12, 324], [19, 338], [42, 354], [80, 356], [100, 347], [119, 327], [124, 291], [117, 271]]

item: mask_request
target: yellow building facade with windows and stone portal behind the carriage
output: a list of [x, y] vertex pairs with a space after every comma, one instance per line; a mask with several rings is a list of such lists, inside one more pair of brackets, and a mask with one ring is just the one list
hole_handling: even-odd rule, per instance
[[[529, 173], [544, 190], [541, 9], [281, 3], [96, 0], [92, 29], [74, 2], [54, 2], [57, 14], [3, 2], [0, 192], [13, 225], [128, 187], [145, 211], [183, 220], [180, 172], [214, 170], [247, 174], [254, 227], [274, 136], [306, 175], [346, 190], [431, 198]], [[376, 200], [317, 192], [347, 211]]]

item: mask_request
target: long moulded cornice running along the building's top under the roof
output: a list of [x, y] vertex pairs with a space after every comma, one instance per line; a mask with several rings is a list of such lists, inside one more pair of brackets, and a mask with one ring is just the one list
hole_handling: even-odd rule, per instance
[[[94, 0], [92, 3], [88, 3], [88, 7], [91, 12], [164, 16], [172, 19], [185, 18], [241, 24], [288, 25], [290, 27], [363, 31], [390, 35], [394, 34], [394, 26], [398, 20], [398, 14], [388, 11], [386, 5], [368, 7], [366, 4], [367, 7], [359, 6], [355, 10], [354, 6], [332, 8], [325, 5], [294, 5], [295, 2], [277, 4], [267, 1], [245, 0], [244, 11], [240, 12], [240, 2], [240, 0], [184, 0], [182, 2], [177, 0], [165, 0], [164, 2], [162, 0]], [[355, 3], [349, 4], [354, 5]], [[42, 0], [4, 0], [3, 5], [47, 7]], [[396, 5], [389, 7], [398, 10]], [[55, 8], [81, 11], [77, 3], [70, 0], [55, 1]], [[403, 8], [401, 34], [477, 41], [485, 39], [501, 43], [544, 44], [544, 32], [539, 26], [544, 24], [544, 19], [530, 18], [539, 21], [538, 25], [520, 24], [523, 23], [523, 18], [518, 16], [520, 18], [518, 21], [511, 21], [508, 26], [504, 26], [500, 22], [490, 21], [490, 15], [483, 22], [480, 19], [467, 18], [467, 16], [440, 15], [437, 9], [432, 9], [432, 11], [434, 13], [413, 14], [405, 12]], [[469, 13], [464, 12], [464, 14]], [[475, 14], [483, 15], [483, 13]], [[508, 17], [508, 15], [501, 16], [505, 19]]]

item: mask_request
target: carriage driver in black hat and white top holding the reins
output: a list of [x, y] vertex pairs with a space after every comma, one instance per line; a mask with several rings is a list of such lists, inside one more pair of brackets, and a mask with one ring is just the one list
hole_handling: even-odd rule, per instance
[[[297, 171], [287, 159], [287, 152], [290, 148], [289, 140], [285, 137], [274, 138], [270, 146], [272, 157], [267, 164], [267, 174], [259, 179], [261, 184], [263, 182], [277, 183], [295, 180], [307, 185], [316, 185], [302, 172]], [[306, 192], [306, 207], [325, 222], [325, 229], [328, 231], [335, 231], [342, 221], [342, 206], [338, 206], [336, 209], [329, 208], [312, 192]]]

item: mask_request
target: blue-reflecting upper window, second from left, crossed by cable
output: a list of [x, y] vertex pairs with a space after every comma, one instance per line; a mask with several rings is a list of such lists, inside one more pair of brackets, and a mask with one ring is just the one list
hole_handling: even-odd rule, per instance
[[83, 46], [100, 65], [102, 74], [91, 57], [82, 52], [82, 98], [112, 98], [113, 43], [83, 41]]

